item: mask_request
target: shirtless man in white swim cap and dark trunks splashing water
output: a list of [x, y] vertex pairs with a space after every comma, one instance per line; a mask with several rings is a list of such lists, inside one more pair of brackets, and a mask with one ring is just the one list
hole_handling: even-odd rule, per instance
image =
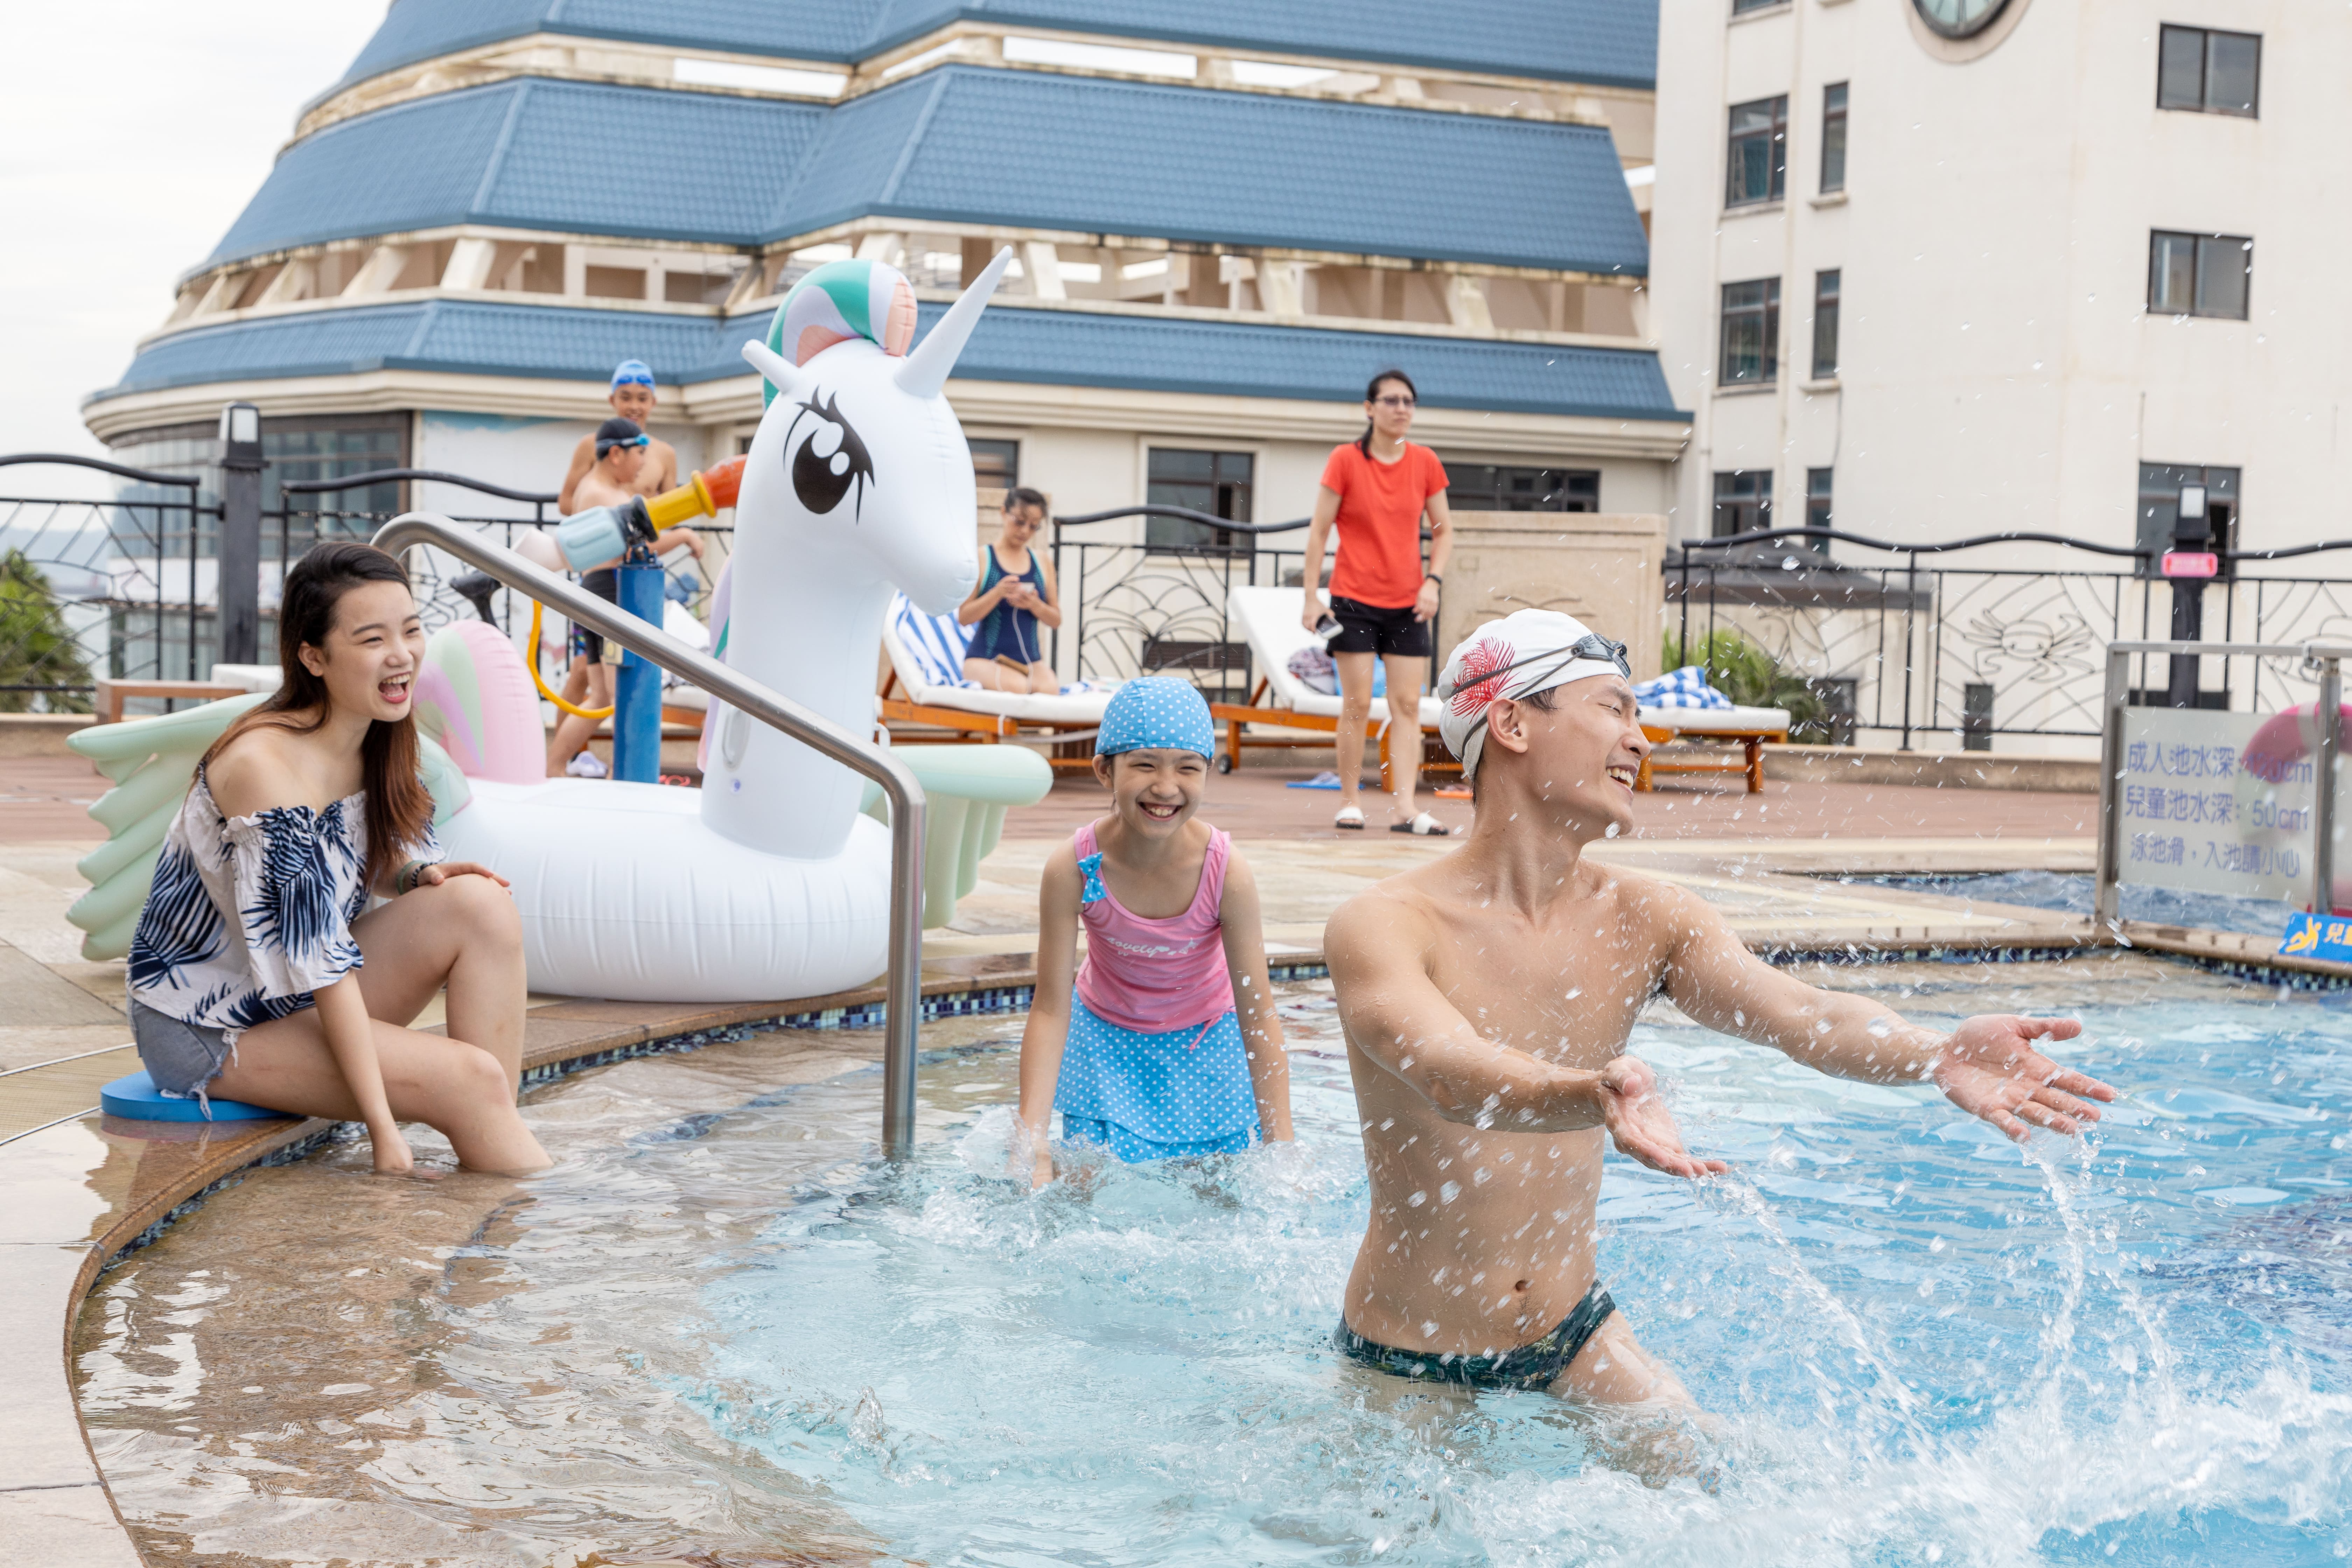
[[1653, 1171], [1724, 1171], [1682, 1147], [1649, 1065], [1623, 1056], [1658, 992], [1820, 1072], [1933, 1081], [2016, 1140], [2072, 1133], [2114, 1098], [2034, 1051], [2074, 1020], [1924, 1030], [1762, 964], [1698, 896], [1585, 860], [1632, 827], [1649, 741], [1628, 677], [1618, 644], [1557, 611], [1454, 649], [1437, 696], [1470, 837], [1324, 931], [1371, 1173], [1338, 1345], [1381, 1371], [1691, 1408], [1592, 1255], [1604, 1135]]

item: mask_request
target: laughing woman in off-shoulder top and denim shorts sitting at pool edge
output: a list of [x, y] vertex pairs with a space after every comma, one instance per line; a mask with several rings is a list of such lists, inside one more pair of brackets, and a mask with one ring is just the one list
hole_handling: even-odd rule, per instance
[[[315, 545], [278, 644], [282, 684], [205, 752], [165, 835], [129, 952], [139, 1060], [167, 1095], [365, 1121], [381, 1173], [414, 1166], [400, 1121], [475, 1171], [543, 1168], [515, 1110], [522, 922], [489, 867], [442, 863], [416, 776], [407, 571]], [[449, 1034], [409, 1030], [442, 987]]]

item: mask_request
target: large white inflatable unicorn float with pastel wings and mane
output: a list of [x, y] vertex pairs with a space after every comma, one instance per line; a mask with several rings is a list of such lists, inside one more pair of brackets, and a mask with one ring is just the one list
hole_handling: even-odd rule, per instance
[[[875, 722], [891, 592], [946, 614], [971, 592], [971, 451], [943, 386], [1011, 252], [915, 343], [915, 292], [880, 261], [816, 268], [743, 346], [764, 414], [741, 470], [713, 656], [851, 733]], [[546, 559], [546, 545], [520, 550]], [[113, 780], [68, 919], [87, 957], [129, 947], [195, 759], [259, 696], [82, 731]], [[623, 1001], [760, 1001], [873, 980], [889, 950], [877, 790], [713, 701], [703, 788], [546, 778], [532, 672], [494, 625], [433, 635], [416, 682], [426, 783], [452, 858], [508, 877], [532, 990]], [[1051, 788], [1014, 745], [896, 752], [929, 797], [924, 924], [946, 924], [1004, 806]]]

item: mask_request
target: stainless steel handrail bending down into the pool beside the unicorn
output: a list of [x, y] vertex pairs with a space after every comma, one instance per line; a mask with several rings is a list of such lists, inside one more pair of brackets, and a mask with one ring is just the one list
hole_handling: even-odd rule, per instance
[[696, 654], [652, 621], [626, 614], [619, 604], [574, 588], [564, 578], [534, 567], [506, 545], [494, 545], [440, 512], [402, 512], [376, 529], [379, 550], [433, 545], [470, 567], [480, 567], [515, 592], [560, 609], [569, 621], [588, 625], [630, 654], [670, 675], [691, 682], [710, 696], [741, 708], [769, 729], [840, 762], [851, 773], [882, 785], [889, 799], [889, 983], [882, 1023], [882, 1147], [901, 1159], [915, 1147], [915, 1030], [922, 1023], [922, 832], [927, 802], [922, 783], [887, 750], [868, 745], [840, 724], [743, 679], [708, 654]]

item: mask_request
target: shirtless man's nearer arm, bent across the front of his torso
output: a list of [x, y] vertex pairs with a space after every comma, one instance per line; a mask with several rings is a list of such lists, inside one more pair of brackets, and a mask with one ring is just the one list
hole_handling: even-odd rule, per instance
[[1609, 1128], [1618, 1152], [1668, 1175], [1710, 1175], [1632, 1056], [1599, 1072], [1557, 1067], [1484, 1039], [1430, 980], [1430, 931], [1418, 910], [1364, 893], [1324, 926], [1324, 959], [1348, 1044], [1430, 1103], [1446, 1121], [1505, 1133]]

